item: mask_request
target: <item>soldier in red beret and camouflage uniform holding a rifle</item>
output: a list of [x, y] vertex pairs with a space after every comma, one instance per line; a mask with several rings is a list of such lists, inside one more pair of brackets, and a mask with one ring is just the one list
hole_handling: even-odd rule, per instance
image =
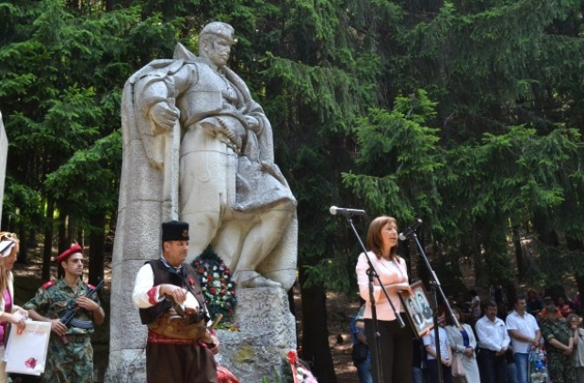
[[90, 336], [93, 326], [80, 328], [65, 326], [58, 318], [75, 302], [80, 308], [75, 319], [101, 325], [105, 314], [97, 295], [88, 298], [89, 289], [83, 282], [83, 248], [74, 244], [57, 257], [57, 264], [65, 270], [63, 278], [47, 282], [26, 302], [24, 308], [33, 320], [51, 323], [47, 365], [43, 382], [92, 382], [93, 347]]

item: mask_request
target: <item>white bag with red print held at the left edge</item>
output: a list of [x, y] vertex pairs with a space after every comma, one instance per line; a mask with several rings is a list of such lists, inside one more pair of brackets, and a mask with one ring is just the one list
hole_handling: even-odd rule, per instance
[[17, 334], [16, 326], [10, 326], [10, 336], [4, 354], [6, 372], [36, 375], [45, 371], [50, 322], [26, 321], [26, 328]]

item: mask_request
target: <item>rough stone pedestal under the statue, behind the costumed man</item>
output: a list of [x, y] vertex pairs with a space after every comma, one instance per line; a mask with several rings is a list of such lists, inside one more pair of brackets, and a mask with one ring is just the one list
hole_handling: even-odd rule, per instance
[[[239, 381], [274, 381], [282, 376], [287, 352], [296, 349], [296, 320], [290, 314], [287, 293], [282, 288], [259, 287], [237, 290], [235, 325], [239, 331], [218, 330], [217, 362], [232, 371]], [[145, 326], [141, 326], [145, 347]], [[136, 336], [135, 332], [130, 332]], [[143, 348], [112, 349], [106, 382], [146, 381]]]

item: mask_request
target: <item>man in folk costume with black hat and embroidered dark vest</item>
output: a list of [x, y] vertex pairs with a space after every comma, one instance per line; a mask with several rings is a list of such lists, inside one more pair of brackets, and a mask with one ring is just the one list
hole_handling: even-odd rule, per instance
[[162, 223], [162, 256], [136, 275], [132, 298], [148, 326], [146, 377], [151, 383], [217, 382], [219, 342], [206, 327], [209, 316], [198, 276], [184, 263], [188, 250], [188, 223]]

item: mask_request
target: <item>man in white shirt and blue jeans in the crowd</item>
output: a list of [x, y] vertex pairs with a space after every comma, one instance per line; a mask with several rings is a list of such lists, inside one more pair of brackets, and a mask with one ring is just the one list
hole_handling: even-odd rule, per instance
[[541, 331], [537, 326], [536, 318], [527, 313], [525, 296], [517, 295], [514, 306], [515, 310], [506, 317], [506, 327], [511, 337], [511, 347], [513, 347], [517, 383], [527, 383], [529, 351], [539, 347]]

